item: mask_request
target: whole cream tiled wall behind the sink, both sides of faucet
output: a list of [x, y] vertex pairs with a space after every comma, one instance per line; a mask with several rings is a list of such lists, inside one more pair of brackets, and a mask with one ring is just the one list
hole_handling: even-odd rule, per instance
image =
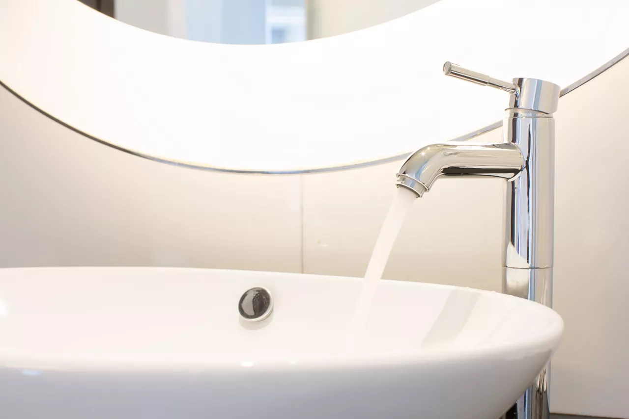
[[[554, 304], [566, 329], [551, 405], [562, 413], [629, 417], [628, 71], [625, 60], [556, 114]], [[162, 165], [82, 138], [0, 89], [0, 266], [360, 276], [398, 165], [303, 177]], [[415, 203], [385, 277], [499, 290], [501, 182], [438, 181]]]

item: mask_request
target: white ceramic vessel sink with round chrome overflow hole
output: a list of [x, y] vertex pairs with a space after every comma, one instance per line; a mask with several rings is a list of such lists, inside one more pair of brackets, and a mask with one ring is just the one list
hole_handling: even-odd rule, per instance
[[[238, 313], [264, 286], [274, 312]], [[559, 315], [499, 293], [175, 268], [0, 269], [10, 419], [493, 419], [559, 344]]]

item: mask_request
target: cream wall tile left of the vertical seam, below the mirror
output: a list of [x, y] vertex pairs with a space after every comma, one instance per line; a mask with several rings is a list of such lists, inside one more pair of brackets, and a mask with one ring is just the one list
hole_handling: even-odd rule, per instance
[[1, 88], [0, 173], [0, 266], [301, 269], [298, 177], [136, 158]]

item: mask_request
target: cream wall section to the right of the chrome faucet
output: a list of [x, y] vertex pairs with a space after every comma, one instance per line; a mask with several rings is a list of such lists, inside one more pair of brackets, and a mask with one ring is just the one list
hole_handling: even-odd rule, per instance
[[555, 150], [554, 308], [565, 321], [552, 406], [629, 417], [629, 60], [563, 97]]

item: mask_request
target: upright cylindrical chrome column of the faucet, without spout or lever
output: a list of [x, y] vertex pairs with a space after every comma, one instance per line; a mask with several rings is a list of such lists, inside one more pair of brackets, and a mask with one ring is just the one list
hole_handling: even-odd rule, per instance
[[[520, 176], [506, 186], [503, 293], [552, 307], [555, 200], [555, 120], [559, 86], [516, 79], [503, 121], [503, 139], [525, 155]], [[528, 109], [525, 111], [525, 109]], [[548, 419], [550, 364], [503, 416]]]

